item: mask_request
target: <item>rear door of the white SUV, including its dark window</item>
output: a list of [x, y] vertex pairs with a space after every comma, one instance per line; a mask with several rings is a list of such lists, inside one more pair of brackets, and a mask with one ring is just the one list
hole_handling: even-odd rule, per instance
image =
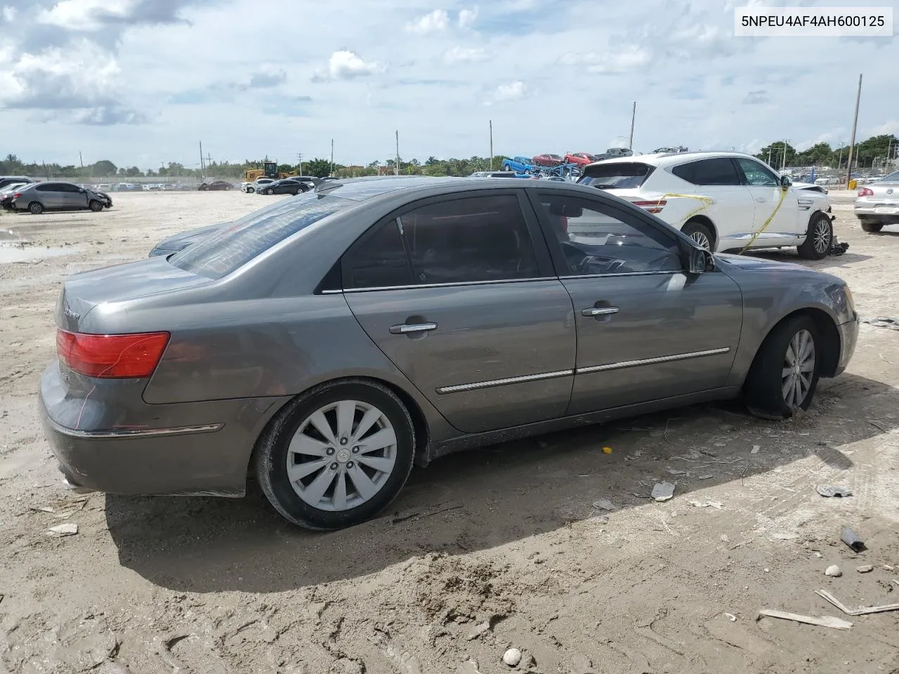
[[[715, 225], [715, 250], [734, 248], [740, 242], [748, 240], [752, 235], [754, 214], [752, 194], [743, 185], [743, 178], [730, 157], [699, 159], [674, 166], [671, 172], [695, 185], [697, 195], [711, 199], [705, 208], [702, 207], [702, 202], [697, 201], [695, 212], [708, 215]], [[680, 229], [686, 222], [670, 224]]]

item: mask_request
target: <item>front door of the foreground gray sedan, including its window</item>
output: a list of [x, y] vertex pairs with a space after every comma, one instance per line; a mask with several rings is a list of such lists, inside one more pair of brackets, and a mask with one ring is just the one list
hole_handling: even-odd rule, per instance
[[642, 212], [567, 191], [532, 199], [574, 303], [569, 414], [725, 386], [743, 322], [732, 279], [686, 273], [686, 243]]

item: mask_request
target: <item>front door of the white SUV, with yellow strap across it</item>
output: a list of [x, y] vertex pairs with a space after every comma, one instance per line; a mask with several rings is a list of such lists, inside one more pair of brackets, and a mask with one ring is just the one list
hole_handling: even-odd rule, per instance
[[752, 232], [760, 234], [753, 245], [792, 244], [805, 235], [808, 221], [800, 220], [796, 191], [782, 187], [779, 177], [754, 159], [737, 157], [736, 163], [754, 202]]

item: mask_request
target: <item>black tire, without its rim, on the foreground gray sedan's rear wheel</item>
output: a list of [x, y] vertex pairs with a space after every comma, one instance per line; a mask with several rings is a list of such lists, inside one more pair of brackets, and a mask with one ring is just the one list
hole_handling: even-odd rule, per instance
[[[367, 501], [349, 510], [323, 510], [303, 501], [290, 483], [289, 446], [310, 415], [325, 405], [350, 400], [376, 407], [387, 417], [396, 433], [396, 462], [378, 492]], [[281, 516], [300, 527], [330, 531], [360, 524], [384, 510], [412, 471], [414, 448], [412, 417], [396, 394], [377, 382], [345, 379], [312, 388], [277, 414], [257, 444], [254, 472], [266, 498]], [[347, 484], [351, 484], [349, 480]]]

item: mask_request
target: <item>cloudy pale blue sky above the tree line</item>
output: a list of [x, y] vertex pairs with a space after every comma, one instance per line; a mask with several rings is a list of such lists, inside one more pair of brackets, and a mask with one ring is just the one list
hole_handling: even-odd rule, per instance
[[746, 4], [766, 2], [0, 0], [0, 152], [295, 163], [334, 138], [367, 164], [395, 129], [404, 157], [487, 155], [488, 120], [497, 154], [601, 152], [634, 101], [636, 151], [838, 146], [859, 72], [859, 137], [899, 133], [895, 37], [735, 38]]

